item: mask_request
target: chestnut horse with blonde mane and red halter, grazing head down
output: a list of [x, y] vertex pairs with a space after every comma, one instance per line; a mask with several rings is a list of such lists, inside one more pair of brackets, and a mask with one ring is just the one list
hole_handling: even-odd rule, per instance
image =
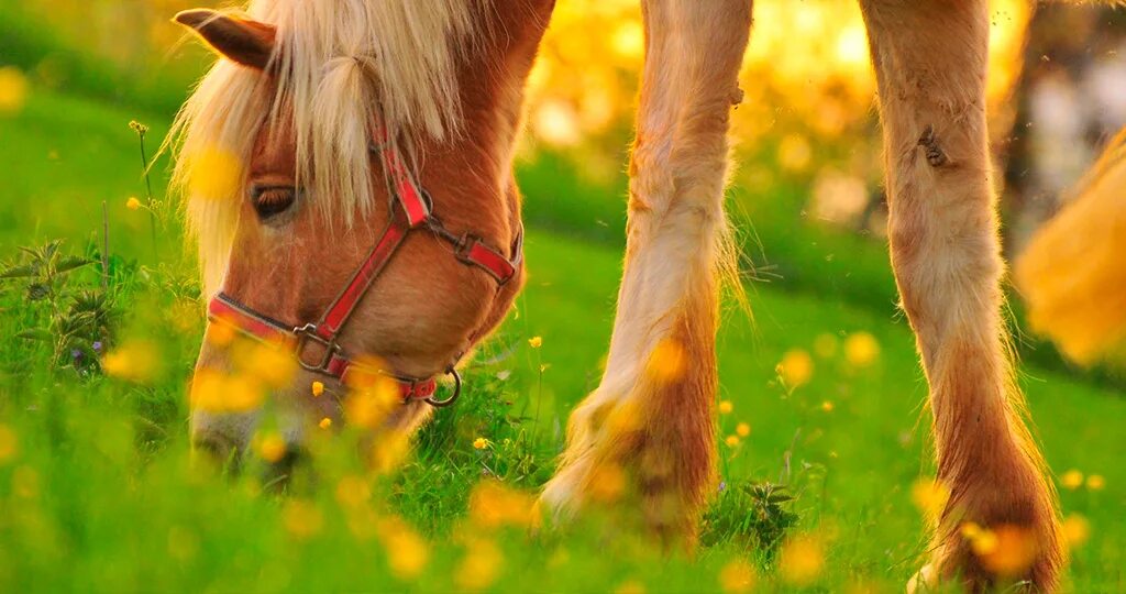
[[[1002, 323], [986, 144], [986, 0], [861, 0], [879, 87], [890, 246], [930, 385], [949, 490], [917, 583], [998, 583], [959, 534], [1021, 534], [1019, 575], [1057, 586], [1055, 496], [1021, 419]], [[292, 348], [274, 399], [288, 445], [350, 375], [394, 387], [381, 427], [410, 432], [519, 291], [512, 176], [524, 87], [554, 0], [253, 0], [179, 23], [221, 60], [177, 124], [177, 179], [212, 323]], [[714, 481], [718, 278], [729, 116], [750, 0], [642, 0], [646, 30], [628, 242], [599, 387], [573, 413], [542, 502], [557, 517], [625, 477], [650, 527], [691, 541]], [[770, 26], [770, 24], [763, 24]], [[233, 163], [233, 165], [232, 165]], [[359, 355], [374, 355], [376, 360]], [[232, 357], [205, 343], [197, 369]], [[676, 361], [679, 373], [654, 362]], [[198, 374], [197, 374], [198, 378]], [[459, 382], [458, 382], [459, 384]], [[241, 452], [252, 413], [196, 409], [195, 444]]]

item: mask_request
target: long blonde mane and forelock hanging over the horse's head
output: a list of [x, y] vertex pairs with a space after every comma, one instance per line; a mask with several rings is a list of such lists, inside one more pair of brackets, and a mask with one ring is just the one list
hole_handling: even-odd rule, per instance
[[205, 294], [218, 290], [226, 272], [262, 124], [292, 110], [300, 183], [322, 213], [350, 223], [373, 205], [368, 142], [376, 116], [392, 141], [441, 141], [458, 132], [457, 59], [479, 41], [485, 2], [250, 2], [250, 18], [277, 27], [277, 74], [271, 80], [220, 60], [169, 135], [173, 186], [186, 197]]

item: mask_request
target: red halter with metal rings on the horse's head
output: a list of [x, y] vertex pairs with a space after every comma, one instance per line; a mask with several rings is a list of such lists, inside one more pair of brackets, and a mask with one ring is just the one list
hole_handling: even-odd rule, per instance
[[[383, 174], [387, 181], [392, 202], [391, 220], [383, 234], [375, 242], [363, 264], [352, 273], [337, 299], [315, 323], [289, 325], [265, 316], [226, 293], [218, 293], [207, 307], [207, 318], [212, 322], [231, 326], [235, 331], [254, 340], [279, 344], [293, 351], [301, 366], [343, 381], [349, 372], [376, 373], [393, 379], [399, 384], [404, 402], [425, 400], [435, 407], [454, 404], [462, 392], [462, 379], [455, 370], [456, 361], [445, 370], [454, 379], [454, 393], [445, 400], [435, 398], [438, 382], [435, 376], [410, 378], [388, 370], [373, 369], [358, 363], [338, 343], [340, 333], [348, 323], [356, 307], [383, 273], [406, 237], [414, 231], [430, 231], [438, 239], [454, 246], [454, 257], [466, 266], [474, 266], [489, 273], [498, 285], [512, 280], [520, 267], [524, 254], [524, 230], [517, 232], [510, 254], [484, 243], [473, 233], [457, 234], [441, 223], [434, 214], [434, 202], [422, 189], [414, 175], [406, 168], [399, 149], [386, 142], [382, 125], [375, 126], [369, 150], [379, 156]], [[397, 203], [397, 209], [395, 204]], [[313, 363], [306, 358], [320, 348]]]

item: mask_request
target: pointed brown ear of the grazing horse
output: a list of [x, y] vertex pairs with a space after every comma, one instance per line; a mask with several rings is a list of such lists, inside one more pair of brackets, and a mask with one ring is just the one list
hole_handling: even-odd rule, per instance
[[277, 28], [257, 20], [224, 15], [205, 8], [185, 10], [176, 21], [191, 29], [227, 60], [266, 70], [274, 53]]

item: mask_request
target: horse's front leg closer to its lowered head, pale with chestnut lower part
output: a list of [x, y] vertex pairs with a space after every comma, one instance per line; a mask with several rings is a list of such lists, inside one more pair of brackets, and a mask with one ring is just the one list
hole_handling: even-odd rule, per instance
[[[750, 0], [644, 0], [625, 271], [601, 383], [579, 405], [543, 503], [641, 509], [692, 540], [714, 482], [717, 275], [727, 128]], [[635, 505], [627, 505], [628, 503]]]

